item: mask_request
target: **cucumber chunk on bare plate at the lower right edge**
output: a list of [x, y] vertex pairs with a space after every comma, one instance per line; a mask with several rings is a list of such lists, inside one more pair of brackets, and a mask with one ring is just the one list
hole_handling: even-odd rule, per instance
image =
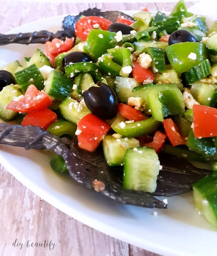
[[209, 176], [193, 184], [195, 208], [213, 226], [217, 227], [217, 174]]

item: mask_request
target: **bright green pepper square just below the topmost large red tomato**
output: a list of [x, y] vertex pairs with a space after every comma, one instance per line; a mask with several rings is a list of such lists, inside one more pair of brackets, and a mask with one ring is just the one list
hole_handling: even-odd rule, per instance
[[110, 42], [115, 36], [114, 32], [92, 29], [87, 36], [84, 52], [97, 61], [108, 49], [114, 47]]

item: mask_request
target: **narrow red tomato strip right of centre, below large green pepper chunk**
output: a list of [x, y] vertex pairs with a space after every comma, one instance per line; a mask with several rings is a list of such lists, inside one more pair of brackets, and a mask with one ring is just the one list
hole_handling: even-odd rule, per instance
[[175, 124], [175, 122], [173, 122], [171, 118], [165, 119], [163, 121], [163, 126], [165, 129], [166, 135], [173, 146], [186, 144], [185, 138], [183, 138], [180, 135], [177, 125]]

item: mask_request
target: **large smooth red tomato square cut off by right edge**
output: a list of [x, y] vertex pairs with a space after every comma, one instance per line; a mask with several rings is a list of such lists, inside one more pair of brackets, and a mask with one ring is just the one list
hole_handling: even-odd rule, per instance
[[195, 138], [217, 136], [217, 109], [194, 104], [193, 124]]

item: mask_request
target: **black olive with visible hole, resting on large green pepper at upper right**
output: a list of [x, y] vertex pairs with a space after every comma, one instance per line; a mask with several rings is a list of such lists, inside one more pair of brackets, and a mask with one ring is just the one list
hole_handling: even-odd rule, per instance
[[199, 42], [197, 37], [188, 30], [177, 30], [169, 36], [168, 45], [184, 42]]

